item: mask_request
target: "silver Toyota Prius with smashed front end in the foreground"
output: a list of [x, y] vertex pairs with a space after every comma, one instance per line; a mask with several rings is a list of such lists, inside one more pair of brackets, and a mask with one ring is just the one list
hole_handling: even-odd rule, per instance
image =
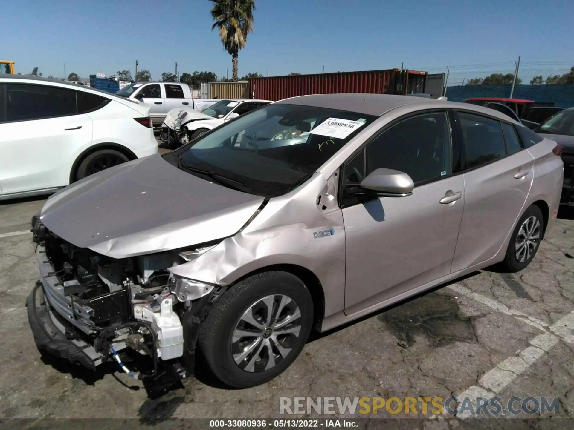
[[325, 331], [476, 269], [525, 268], [560, 146], [485, 107], [281, 100], [84, 178], [32, 219], [41, 350], [166, 389], [262, 384]]

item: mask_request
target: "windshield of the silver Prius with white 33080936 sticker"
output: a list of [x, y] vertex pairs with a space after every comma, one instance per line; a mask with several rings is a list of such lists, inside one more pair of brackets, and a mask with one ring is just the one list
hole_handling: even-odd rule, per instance
[[190, 174], [246, 193], [277, 197], [307, 181], [375, 118], [269, 104], [215, 128], [174, 154], [180, 168]]

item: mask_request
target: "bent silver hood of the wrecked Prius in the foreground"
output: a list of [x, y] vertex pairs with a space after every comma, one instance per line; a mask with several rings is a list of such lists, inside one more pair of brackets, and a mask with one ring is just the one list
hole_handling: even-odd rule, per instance
[[177, 169], [157, 154], [60, 190], [40, 219], [77, 247], [124, 258], [232, 236], [262, 202]]

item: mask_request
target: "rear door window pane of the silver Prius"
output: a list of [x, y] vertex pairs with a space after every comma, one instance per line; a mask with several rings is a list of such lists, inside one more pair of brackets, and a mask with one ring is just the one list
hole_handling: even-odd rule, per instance
[[465, 170], [505, 157], [506, 147], [499, 121], [464, 112], [457, 115], [464, 135]]

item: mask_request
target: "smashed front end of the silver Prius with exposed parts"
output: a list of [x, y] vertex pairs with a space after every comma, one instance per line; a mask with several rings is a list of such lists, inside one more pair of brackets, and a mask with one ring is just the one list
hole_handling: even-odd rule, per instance
[[115, 360], [146, 388], [193, 376], [200, 315], [223, 288], [167, 269], [215, 244], [114, 259], [32, 219], [41, 279], [26, 300], [38, 349], [95, 369]]

